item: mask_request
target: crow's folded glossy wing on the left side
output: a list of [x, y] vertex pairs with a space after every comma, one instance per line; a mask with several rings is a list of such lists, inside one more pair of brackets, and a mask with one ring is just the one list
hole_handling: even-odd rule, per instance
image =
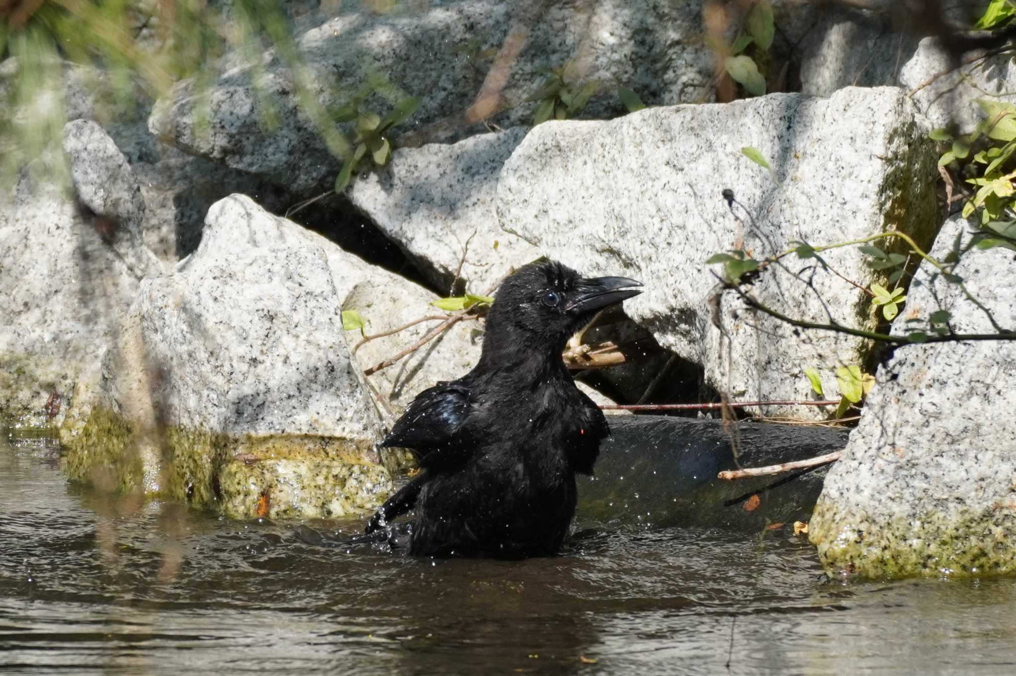
[[459, 430], [468, 414], [469, 390], [454, 381], [438, 383], [417, 395], [381, 446], [412, 449], [425, 467], [433, 464], [424, 462], [432, 454], [451, 460], [463, 450]]

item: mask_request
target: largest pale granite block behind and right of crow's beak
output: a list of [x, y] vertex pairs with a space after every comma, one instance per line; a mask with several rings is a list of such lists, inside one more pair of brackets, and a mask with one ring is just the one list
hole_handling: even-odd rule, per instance
[[[586, 274], [643, 281], [645, 292], [626, 312], [660, 345], [704, 364], [711, 386], [737, 399], [809, 399], [806, 367], [818, 368], [835, 392], [835, 368], [864, 364], [871, 345], [834, 333], [802, 335], [744, 310], [727, 292], [720, 319], [733, 341], [728, 359], [712, 323], [716, 279], [705, 261], [731, 249], [762, 258], [793, 240], [824, 245], [892, 229], [927, 246], [937, 226], [935, 154], [913, 118], [898, 89], [847, 88], [829, 98], [771, 94], [610, 122], [547, 123], [502, 170], [498, 216], [505, 230]], [[779, 184], [742, 154], [745, 146], [768, 158]], [[738, 218], [724, 188], [738, 199]], [[823, 256], [861, 285], [881, 280], [856, 248]], [[785, 263], [798, 271], [814, 262]], [[807, 279], [814, 290], [776, 268], [751, 292], [795, 318], [824, 323], [828, 312], [845, 325], [876, 326], [861, 290], [821, 270]]]

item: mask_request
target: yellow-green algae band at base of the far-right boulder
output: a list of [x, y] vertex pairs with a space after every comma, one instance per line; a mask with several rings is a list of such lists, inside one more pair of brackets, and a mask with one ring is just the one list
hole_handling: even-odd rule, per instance
[[1016, 573], [1016, 501], [973, 514], [929, 513], [923, 519], [874, 519], [819, 500], [809, 539], [830, 576], [878, 580]]

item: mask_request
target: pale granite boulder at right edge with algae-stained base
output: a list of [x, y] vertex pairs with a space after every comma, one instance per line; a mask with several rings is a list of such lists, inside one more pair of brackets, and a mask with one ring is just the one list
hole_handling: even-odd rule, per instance
[[[953, 218], [932, 255], [945, 260], [957, 239], [964, 248], [974, 227]], [[995, 333], [985, 311], [935, 272], [922, 264], [893, 332], [927, 330], [929, 315], [946, 310], [957, 333]], [[1002, 328], [1016, 330], [1013, 252], [973, 249], [953, 273]], [[877, 381], [811, 521], [826, 569], [1016, 571], [1016, 343], [907, 345]]]

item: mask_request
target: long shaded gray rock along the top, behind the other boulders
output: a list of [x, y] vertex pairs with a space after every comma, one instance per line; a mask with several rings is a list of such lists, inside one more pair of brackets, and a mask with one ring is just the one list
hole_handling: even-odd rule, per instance
[[[529, 124], [535, 104], [524, 99], [542, 86], [546, 75], [541, 69], [567, 62], [575, 79], [600, 89], [583, 111], [586, 116], [623, 112], [619, 84], [647, 103], [702, 100], [708, 96], [712, 65], [701, 35], [694, 2], [443, 0], [418, 12], [375, 14], [359, 6], [332, 17], [322, 12], [319, 24], [300, 35], [297, 45], [305, 61], [300, 77], [322, 111], [336, 108], [372, 74], [382, 73], [422, 99], [396, 135], [411, 129], [418, 142], [447, 142], [482, 130], [485, 117], [505, 128]], [[477, 38], [481, 50], [497, 48], [502, 54], [478, 61], [456, 49]], [[504, 76], [492, 76], [485, 84], [494, 62], [504, 64]], [[296, 192], [330, 183], [339, 165], [333, 156], [337, 146], [323, 141], [306, 115], [291, 68], [273, 51], [256, 69], [238, 55], [227, 64], [210, 90], [201, 91], [191, 79], [161, 100], [149, 120], [152, 131], [191, 154], [259, 174]], [[490, 109], [470, 117], [466, 111], [482, 90]], [[277, 121], [270, 130], [262, 125], [267, 102]], [[374, 95], [365, 107], [384, 113], [389, 104]], [[330, 129], [332, 123], [323, 119], [321, 124]]]

